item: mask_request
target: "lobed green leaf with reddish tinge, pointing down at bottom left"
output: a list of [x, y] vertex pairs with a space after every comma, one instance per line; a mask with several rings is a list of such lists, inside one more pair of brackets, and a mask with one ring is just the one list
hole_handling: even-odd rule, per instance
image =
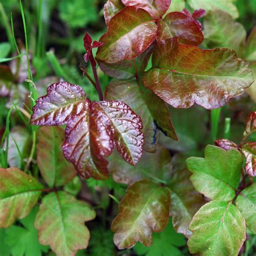
[[59, 191], [43, 198], [35, 227], [39, 242], [50, 245], [58, 255], [75, 255], [87, 247], [90, 234], [85, 221], [95, 218], [95, 211], [83, 201]]

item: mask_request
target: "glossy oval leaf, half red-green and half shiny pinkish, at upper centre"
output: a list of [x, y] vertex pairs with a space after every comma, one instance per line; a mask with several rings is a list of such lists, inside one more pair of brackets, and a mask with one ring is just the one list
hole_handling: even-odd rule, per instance
[[111, 19], [97, 58], [107, 63], [132, 60], [153, 43], [156, 33], [157, 25], [145, 10], [128, 6]]

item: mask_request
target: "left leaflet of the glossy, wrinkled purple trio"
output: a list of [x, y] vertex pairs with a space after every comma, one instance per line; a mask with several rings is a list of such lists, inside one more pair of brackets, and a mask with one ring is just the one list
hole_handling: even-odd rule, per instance
[[82, 111], [85, 99], [85, 92], [78, 85], [66, 82], [52, 84], [47, 95], [36, 100], [30, 124], [67, 124], [72, 116]]

